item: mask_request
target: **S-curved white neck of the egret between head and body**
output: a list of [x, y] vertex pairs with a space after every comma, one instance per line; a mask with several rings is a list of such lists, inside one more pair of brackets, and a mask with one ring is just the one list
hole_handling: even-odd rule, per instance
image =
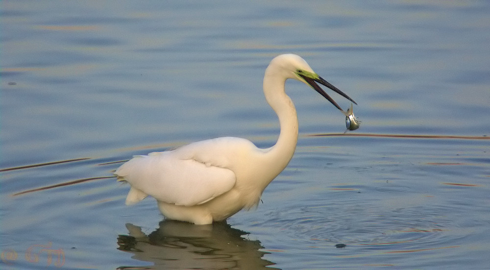
[[[266, 70], [264, 76], [264, 95], [270, 107], [276, 112], [279, 118], [281, 132], [277, 143], [268, 149], [266, 154], [271, 162], [274, 163], [274, 168], [277, 172], [273, 177], [277, 176], [293, 157], [296, 143], [298, 141], [298, 118], [293, 101], [284, 92], [286, 78], [281, 74], [275, 74], [271, 69]], [[275, 170], [274, 170], [275, 171]], [[272, 180], [272, 179], [270, 179]]]

